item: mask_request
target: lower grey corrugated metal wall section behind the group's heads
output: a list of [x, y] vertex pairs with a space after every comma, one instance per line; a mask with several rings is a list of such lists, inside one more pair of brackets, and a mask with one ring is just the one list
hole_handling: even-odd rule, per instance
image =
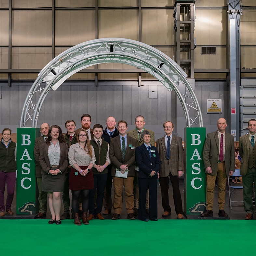
[[[21, 110], [32, 85], [31, 82], [15, 82], [12, 87], [6, 83], [2, 85], [2, 99], [0, 99], [0, 130], [5, 127], [19, 126]], [[142, 81], [141, 87], [134, 81], [100, 81], [95, 86], [93, 81], [65, 82], [56, 91], [51, 90], [43, 104], [38, 117], [38, 127], [43, 122], [50, 125], [58, 124], [65, 129], [65, 121], [73, 119], [76, 128], [80, 128], [82, 114], [92, 116], [92, 126], [100, 123], [105, 127], [106, 118], [114, 116], [116, 121], [124, 119], [128, 122], [128, 129], [134, 129], [137, 115], [145, 118], [145, 127], [154, 130], [156, 139], [164, 134], [162, 124], [166, 120], [175, 123], [174, 133], [184, 139], [185, 117], [181, 104], [175, 92], [169, 92], [157, 81]], [[157, 85], [157, 98], [149, 99], [149, 86]], [[207, 114], [206, 99], [210, 98], [210, 88], [218, 88], [222, 99], [222, 114]], [[195, 82], [195, 93], [202, 107], [202, 115], [207, 133], [217, 129], [218, 118], [227, 118], [228, 88], [224, 81]], [[37, 96], [38, 97], [38, 96]], [[179, 116], [175, 116], [179, 113]], [[228, 125], [229, 128], [229, 125]]]

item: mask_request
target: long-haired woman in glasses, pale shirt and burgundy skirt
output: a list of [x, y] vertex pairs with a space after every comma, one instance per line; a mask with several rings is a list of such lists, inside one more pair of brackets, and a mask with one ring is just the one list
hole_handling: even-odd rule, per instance
[[88, 133], [81, 129], [77, 134], [77, 143], [69, 148], [69, 164], [72, 166], [69, 176], [69, 189], [72, 190], [72, 209], [74, 223], [81, 225], [78, 207], [79, 197], [82, 195], [83, 223], [89, 224], [87, 211], [89, 204], [89, 190], [93, 189], [93, 174], [90, 169], [95, 164], [94, 149], [90, 144]]

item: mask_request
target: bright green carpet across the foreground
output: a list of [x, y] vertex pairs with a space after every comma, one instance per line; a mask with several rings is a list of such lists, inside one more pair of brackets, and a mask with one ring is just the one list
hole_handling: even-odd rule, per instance
[[254, 255], [256, 221], [0, 220], [1, 255]]

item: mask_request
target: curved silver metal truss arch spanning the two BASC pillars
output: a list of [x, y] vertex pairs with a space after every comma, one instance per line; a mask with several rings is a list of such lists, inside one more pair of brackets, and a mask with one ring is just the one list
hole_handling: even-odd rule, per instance
[[38, 74], [26, 97], [20, 127], [31, 122], [31, 127], [37, 126], [41, 107], [50, 89], [56, 90], [79, 70], [107, 62], [128, 64], [153, 75], [169, 91], [174, 90], [177, 94], [187, 127], [203, 127], [200, 106], [181, 67], [156, 48], [125, 38], [87, 41], [69, 48], [50, 61]]

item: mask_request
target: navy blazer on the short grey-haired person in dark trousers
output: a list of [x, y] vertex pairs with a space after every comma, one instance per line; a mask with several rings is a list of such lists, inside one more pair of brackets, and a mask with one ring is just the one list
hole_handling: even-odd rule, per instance
[[[153, 151], [153, 152], [152, 152]], [[155, 152], [154, 152], [155, 151]], [[142, 179], [157, 179], [157, 174], [150, 177], [153, 171], [158, 172], [160, 168], [160, 158], [155, 146], [151, 146], [151, 158], [144, 144], [138, 146], [135, 150], [136, 162], [140, 168], [139, 178]]]

